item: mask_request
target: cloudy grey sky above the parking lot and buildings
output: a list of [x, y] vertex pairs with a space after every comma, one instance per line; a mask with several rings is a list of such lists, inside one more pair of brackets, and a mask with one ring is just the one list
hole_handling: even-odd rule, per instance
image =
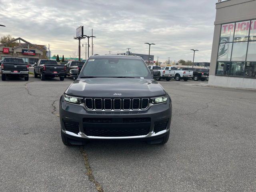
[[[0, 0], [0, 36], [48, 45], [53, 54], [78, 54], [76, 27], [93, 28], [94, 54], [151, 54], [160, 61], [210, 62], [217, 0]], [[86, 43], [87, 39], [82, 40]], [[82, 58], [85, 47], [81, 47]], [[91, 50], [90, 50], [91, 53]]]

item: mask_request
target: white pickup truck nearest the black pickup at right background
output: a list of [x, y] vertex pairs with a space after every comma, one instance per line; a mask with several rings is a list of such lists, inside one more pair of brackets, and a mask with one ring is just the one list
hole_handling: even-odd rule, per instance
[[180, 81], [181, 79], [183, 79], [184, 81], [187, 81], [189, 78], [193, 78], [192, 70], [191, 71], [178, 70], [177, 67], [167, 66], [167, 67], [162, 67], [160, 71], [162, 71], [160, 79], [166, 79], [167, 81], [169, 78], [175, 78], [176, 81]]

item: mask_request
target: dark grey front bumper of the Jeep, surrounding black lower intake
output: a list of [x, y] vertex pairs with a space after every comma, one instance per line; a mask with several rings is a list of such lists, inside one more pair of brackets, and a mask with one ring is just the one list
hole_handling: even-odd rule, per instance
[[[172, 116], [172, 102], [168, 98], [167, 102], [162, 104], [151, 105], [147, 110], [136, 111], [90, 111], [87, 110], [84, 105], [76, 105], [64, 102], [63, 98], [60, 98], [60, 124], [61, 131], [69, 138], [75, 140], [81, 139], [154, 139], [164, 136], [170, 131]], [[83, 118], [150, 118], [150, 129], [145, 135], [139, 136], [88, 136], [84, 132]], [[168, 124], [165, 130], [160, 132], [154, 132], [155, 122], [168, 120]], [[64, 126], [64, 121], [77, 122], [79, 124], [79, 133], [67, 131]], [[122, 126], [122, 125], [121, 125]]]

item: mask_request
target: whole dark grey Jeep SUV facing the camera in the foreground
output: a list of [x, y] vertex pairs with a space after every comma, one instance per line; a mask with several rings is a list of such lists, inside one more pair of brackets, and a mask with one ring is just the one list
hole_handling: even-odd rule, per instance
[[137, 56], [91, 56], [60, 98], [61, 136], [68, 146], [90, 139], [165, 144], [171, 116], [170, 96]]

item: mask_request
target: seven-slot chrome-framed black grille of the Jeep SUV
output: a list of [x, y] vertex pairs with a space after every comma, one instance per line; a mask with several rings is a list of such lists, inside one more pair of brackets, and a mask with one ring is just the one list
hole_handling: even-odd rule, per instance
[[146, 110], [149, 98], [85, 98], [88, 110]]

